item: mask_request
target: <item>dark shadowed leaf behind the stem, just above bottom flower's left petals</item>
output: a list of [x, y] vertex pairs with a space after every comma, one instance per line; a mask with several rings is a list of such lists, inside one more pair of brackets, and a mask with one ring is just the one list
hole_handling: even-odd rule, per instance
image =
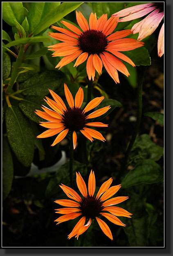
[[[64, 185], [70, 184], [69, 164], [70, 161], [66, 162], [64, 165], [61, 165], [61, 167], [59, 167], [56, 171], [55, 176], [50, 179], [45, 191], [46, 197], [55, 197], [55, 195], [61, 191], [61, 188], [59, 187], [61, 183]], [[76, 178], [76, 171], [79, 171], [81, 175], [86, 175], [87, 167], [80, 162], [73, 161], [73, 180]]]

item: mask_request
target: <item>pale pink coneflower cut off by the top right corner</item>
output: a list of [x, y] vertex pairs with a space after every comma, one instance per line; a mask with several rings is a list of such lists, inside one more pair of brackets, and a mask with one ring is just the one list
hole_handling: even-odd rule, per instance
[[[164, 2], [154, 2], [128, 7], [124, 10], [118, 11], [115, 14], [112, 14], [112, 17], [124, 17], [118, 21], [124, 22], [135, 20], [136, 18], [143, 17], [148, 13], [150, 14], [146, 16], [146, 18], [133, 25], [131, 29], [133, 34], [139, 33], [137, 40], [140, 41], [150, 36], [162, 21], [164, 17]], [[162, 57], [164, 54], [164, 23], [160, 29], [158, 37], [157, 51], [158, 56]]]

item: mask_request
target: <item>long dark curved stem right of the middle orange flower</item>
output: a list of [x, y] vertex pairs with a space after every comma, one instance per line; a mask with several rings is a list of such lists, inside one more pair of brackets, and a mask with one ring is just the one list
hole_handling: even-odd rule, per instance
[[139, 83], [138, 83], [138, 87], [137, 87], [137, 121], [136, 121], [134, 133], [133, 133], [133, 135], [130, 139], [130, 143], [128, 144], [128, 147], [127, 147], [127, 150], [126, 150], [126, 153], [125, 153], [124, 162], [123, 162], [123, 166], [122, 166], [122, 170], [121, 170], [121, 176], [122, 176], [122, 174], [126, 173], [128, 158], [129, 158], [131, 149], [133, 147], [133, 144], [135, 142], [135, 139], [137, 137], [137, 133], [139, 131], [139, 127], [140, 127], [140, 123], [141, 123], [141, 116], [142, 116], [142, 85], [143, 85], [143, 81], [144, 81], [144, 75], [145, 75], [145, 72], [146, 72], [146, 68], [147, 68], [147, 66], [142, 66], [141, 67], [141, 72], [140, 72], [140, 75], [139, 75]]

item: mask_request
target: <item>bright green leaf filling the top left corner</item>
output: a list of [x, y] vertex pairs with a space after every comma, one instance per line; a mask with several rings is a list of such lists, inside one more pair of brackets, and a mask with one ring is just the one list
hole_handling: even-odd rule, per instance
[[16, 27], [15, 20], [21, 24], [24, 19], [22, 2], [2, 2], [2, 18], [10, 26]]

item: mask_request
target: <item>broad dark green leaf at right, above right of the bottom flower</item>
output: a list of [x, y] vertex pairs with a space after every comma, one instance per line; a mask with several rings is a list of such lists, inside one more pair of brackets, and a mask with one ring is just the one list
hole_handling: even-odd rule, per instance
[[153, 184], [160, 176], [161, 167], [153, 160], [143, 160], [126, 174], [121, 182], [121, 187], [126, 188], [141, 183]]

